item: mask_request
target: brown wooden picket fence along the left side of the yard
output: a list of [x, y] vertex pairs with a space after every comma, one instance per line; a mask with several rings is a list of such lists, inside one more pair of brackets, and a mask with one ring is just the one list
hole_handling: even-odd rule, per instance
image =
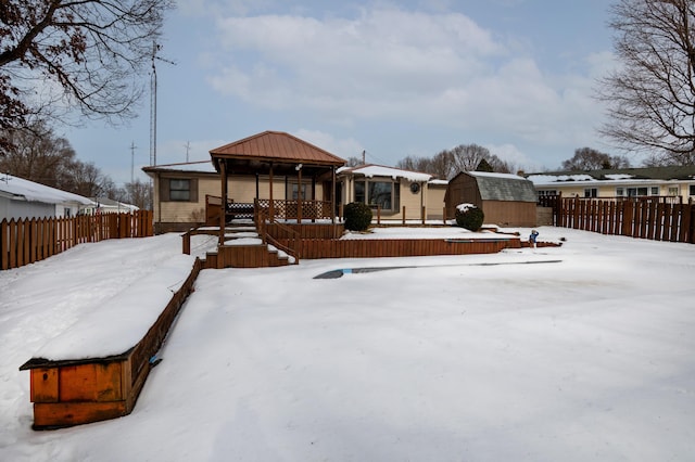
[[77, 244], [153, 235], [152, 211], [0, 221], [0, 270], [18, 268]]

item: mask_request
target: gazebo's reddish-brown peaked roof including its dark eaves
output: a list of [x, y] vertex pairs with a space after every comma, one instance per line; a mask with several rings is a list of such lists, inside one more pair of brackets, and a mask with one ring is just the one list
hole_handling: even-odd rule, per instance
[[226, 162], [229, 171], [250, 172], [274, 166], [342, 166], [345, 161], [283, 131], [264, 131], [210, 151], [213, 165]]

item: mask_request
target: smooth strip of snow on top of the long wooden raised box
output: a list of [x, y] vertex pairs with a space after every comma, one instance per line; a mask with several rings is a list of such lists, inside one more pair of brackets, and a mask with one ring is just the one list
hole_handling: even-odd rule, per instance
[[156, 271], [126, 287], [122, 293], [49, 341], [35, 358], [75, 361], [108, 358], [127, 352], [156, 322], [195, 262], [195, 257], [177, 255], [157, 266]]

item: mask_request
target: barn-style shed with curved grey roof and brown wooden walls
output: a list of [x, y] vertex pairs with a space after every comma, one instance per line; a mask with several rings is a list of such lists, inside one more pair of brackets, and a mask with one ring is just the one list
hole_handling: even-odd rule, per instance
[[511, 174], [462, 171], [448, 181], [446, 216], [454, 217], [458, 204], [473, 204], [484, 222], [503, 227], [536, 226], [538, 196], [533, 183]]

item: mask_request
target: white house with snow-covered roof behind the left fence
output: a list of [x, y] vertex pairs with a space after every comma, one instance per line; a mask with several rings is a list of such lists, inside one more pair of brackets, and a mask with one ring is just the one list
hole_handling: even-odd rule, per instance
[[0, 175], [0, 220], [74, 217], [92, 202], [12, 175]]

